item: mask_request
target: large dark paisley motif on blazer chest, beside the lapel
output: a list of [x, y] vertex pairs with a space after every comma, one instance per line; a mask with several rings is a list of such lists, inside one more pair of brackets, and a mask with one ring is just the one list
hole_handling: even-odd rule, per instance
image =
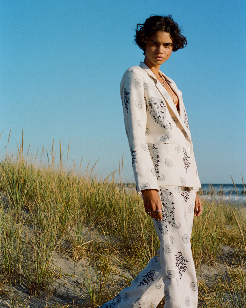
[[166, 122], [166, 105], [161, 99], [154, 96], [149, 97], [148, 112], [161, 127], [172, 129], [171, 123]]

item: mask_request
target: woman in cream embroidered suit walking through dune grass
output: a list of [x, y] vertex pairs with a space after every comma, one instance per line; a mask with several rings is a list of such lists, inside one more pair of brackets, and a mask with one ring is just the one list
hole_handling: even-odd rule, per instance
[[160, 71], [172, 51], [186, 46], [169, 16], [151, 16], [138, 24], [135, 41], [144, 51], [139, 66], [121, 81], [125, 129], [137, 192], [152, 217], [160, 249], [131, 285], [103, 308], [197, 307], [196, 271], [190, 236], [200, 216], [200, 187], [181, 91]]

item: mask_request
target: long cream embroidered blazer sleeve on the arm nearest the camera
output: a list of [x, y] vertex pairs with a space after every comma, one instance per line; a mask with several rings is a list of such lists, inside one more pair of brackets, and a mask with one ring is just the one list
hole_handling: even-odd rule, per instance
[[145, 140], [146, 131], [146, 84], [141, 78], [141, 68], [128, 69], [121, 80], [121, 99], [123, 105], [125, 130], [132, 155], [132, 165], [137, 186], [143, 189], [159, 190], [154, 165]]

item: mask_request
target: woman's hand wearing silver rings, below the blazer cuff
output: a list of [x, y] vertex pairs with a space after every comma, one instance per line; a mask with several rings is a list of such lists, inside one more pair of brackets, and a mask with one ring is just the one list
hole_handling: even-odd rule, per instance
[[145, 212], [152, 218], [162, 220], [161, 199], [156, 189], [144, 189], [143, 194]]

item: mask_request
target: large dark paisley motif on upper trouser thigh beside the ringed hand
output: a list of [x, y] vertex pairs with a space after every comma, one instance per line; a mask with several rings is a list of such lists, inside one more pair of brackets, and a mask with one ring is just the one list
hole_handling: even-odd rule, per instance
[[162, 219], [164, 221], [166, 220], [173, 228], [179, 229], [181, 227], [181, 224], [180, 222], [176, 223], [174, 217], [175, 204], [173, 202], [173, 193], [171, 193], [167, 188], [160, 188], [159, 192], [161, 196], [161, 203], [163, 205]]

